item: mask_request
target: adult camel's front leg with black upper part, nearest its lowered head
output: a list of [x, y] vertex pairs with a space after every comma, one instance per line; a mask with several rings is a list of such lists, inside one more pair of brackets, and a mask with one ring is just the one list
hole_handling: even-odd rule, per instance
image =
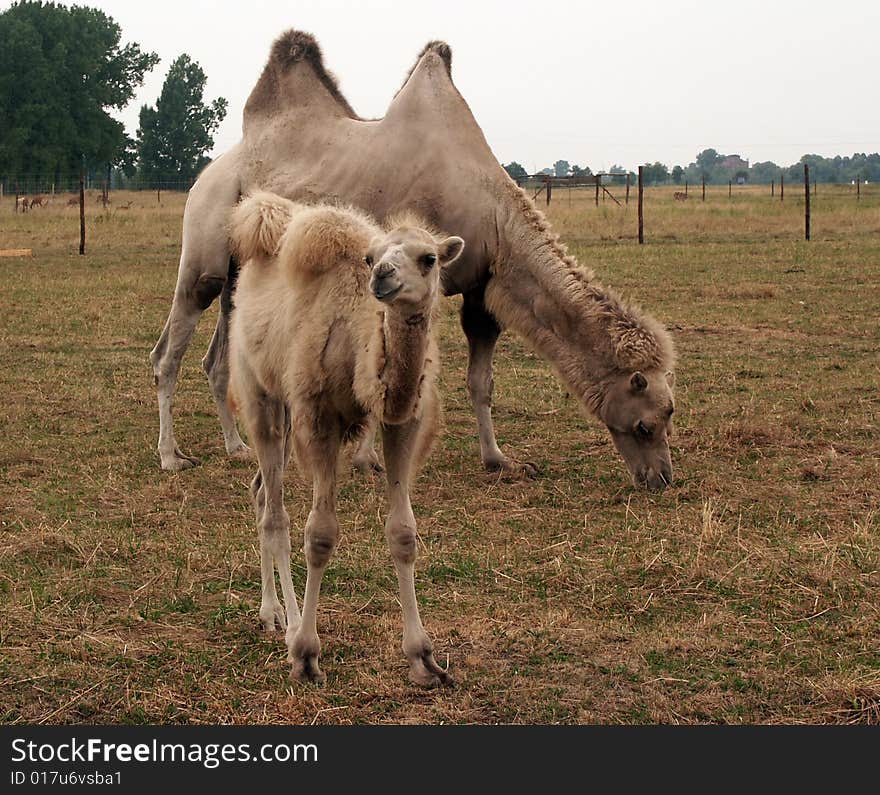
[[467, 384], [477, 430], [480, 436], [480, 456], [489, 472], [516, 472], [533, 477], [538, 474], [534, 464], [517, 464], [511, 461], [495, 439], [492, 423], [492, 357], [501, 328], [483, 305], [482, 291], [465, 293], [461, 305], [461, 327], [468, 341]]

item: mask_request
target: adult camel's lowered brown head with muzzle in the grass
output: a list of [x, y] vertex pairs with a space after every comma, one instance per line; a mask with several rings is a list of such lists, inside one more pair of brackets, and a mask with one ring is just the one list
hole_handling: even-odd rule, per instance
[[599, 415], [636, 486], [659, 491], [672, 483], [674, 385], [672, 372], [636, 371], [614, 376], [605, 393]]

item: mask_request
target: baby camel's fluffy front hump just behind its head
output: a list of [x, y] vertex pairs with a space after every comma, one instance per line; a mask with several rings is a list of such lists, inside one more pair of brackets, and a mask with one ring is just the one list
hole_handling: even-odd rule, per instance
[[319, 204], [300, 206], [281, 242], [278, 258], [293, 283], [362, 264], [370, 241], [382, 233], [358, 210]]

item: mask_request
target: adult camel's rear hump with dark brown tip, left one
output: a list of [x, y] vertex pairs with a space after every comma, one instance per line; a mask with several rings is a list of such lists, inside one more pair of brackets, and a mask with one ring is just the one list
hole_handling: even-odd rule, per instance
[[339, 90], [336, 77], [324, 66], [317, 39], [301, 30], [285, 31], [272, 44], [269, 60], [245, 103], [245, 130], [257, 119], [291, 106], [308, 105], [314, 112], [321, 97], [329, 109], [358, 118]]

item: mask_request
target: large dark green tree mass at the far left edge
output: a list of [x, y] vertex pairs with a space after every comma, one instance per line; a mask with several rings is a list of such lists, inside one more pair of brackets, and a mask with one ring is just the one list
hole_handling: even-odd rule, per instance
[[0, 175], [63, 176], [122, 162], [124, 108], [159, 57], [120, 45], [103, 11], [16, 3], [0, 13]]

